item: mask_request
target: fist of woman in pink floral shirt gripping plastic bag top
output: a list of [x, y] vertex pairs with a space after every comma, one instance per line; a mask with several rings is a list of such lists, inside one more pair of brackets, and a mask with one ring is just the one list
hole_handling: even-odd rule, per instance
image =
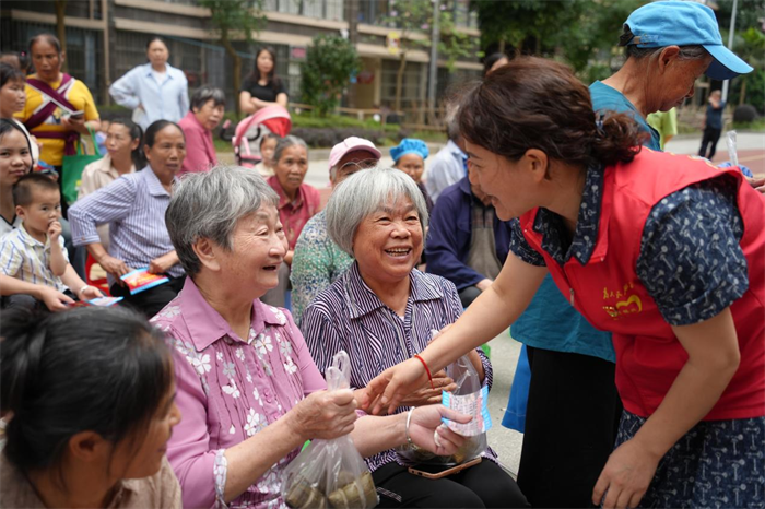
[[314, 392], [284, 416], [292, 431], [303, 440], [348, 435], [356, 417], [356, 400], [350, 389]]

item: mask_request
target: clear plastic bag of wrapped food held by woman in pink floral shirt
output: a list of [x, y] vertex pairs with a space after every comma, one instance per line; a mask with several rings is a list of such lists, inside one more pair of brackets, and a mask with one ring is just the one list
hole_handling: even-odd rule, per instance
[[[350, 387], [350, 358], [340, 351], [327, 389]], [[372, 509], [379, 502], [369, 469], [349, 435], [315, 439], [284, 470], [282, 497], [293, 509]]]

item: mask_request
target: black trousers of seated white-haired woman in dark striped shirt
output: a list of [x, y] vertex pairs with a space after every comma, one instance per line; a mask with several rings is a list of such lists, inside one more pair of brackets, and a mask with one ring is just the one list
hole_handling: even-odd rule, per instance
[[380, 495], [378, 509], [520, 509], [530, 508], [513, 477], [484, 459], [457, 474], [429, 480], [388, 463], [372, 477]]

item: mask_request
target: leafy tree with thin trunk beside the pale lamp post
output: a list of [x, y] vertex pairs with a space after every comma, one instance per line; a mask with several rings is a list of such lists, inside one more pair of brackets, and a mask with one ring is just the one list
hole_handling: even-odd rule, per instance
[[[393, 0], [390, 2], [389, 15], [382, 17], [382, 24], [399, 32], [399, 69], [396, 73], [396, 99], [393, 109], [401, 110], [401, 91], [407, 69], [408, 51], [431, 48], [433, 27], [433, 2], [431, 0]], [[473, 55], [475, 38], [457, 28], [452, 13], [442, 5], [438, 15], [438, 55], [446, 60], [449, 71], [460, 57]]]

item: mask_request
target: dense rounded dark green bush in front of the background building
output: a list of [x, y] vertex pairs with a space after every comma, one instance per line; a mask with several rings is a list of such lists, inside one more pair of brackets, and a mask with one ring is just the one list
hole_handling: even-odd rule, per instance
[[301, 63], [303, 102], [314, 106], [320, 117], [334, 109], [361, 62], [353, 45], [337, 35], [314, 37]]

